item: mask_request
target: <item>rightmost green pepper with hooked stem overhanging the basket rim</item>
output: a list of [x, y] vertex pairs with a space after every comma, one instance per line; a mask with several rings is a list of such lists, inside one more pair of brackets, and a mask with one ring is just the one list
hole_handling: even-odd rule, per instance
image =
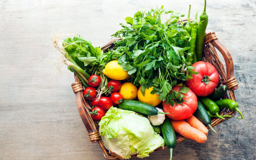
[[238, 103], [233, 101], [233, 100], [230, 100], [230, 99], [223, 99], [223, 100], [217, 100], [215, 101], [215, 103], [220, 106], [220, 107], [223, 107], [223, 108], [228, 108], [232, 111], [237, 111], [241, 118], [240, 117], [236, 117], [237, 119], [243, 119], [243, 115], [241, 113], [241, 111], [238, 109]]

